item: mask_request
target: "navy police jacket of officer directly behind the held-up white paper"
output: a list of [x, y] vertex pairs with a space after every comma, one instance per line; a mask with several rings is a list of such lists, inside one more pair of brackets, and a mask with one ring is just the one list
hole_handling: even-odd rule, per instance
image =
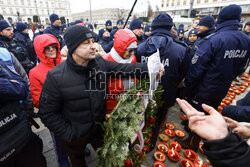
[[137, 48], [136, 58], [138, 62], [147, 62], [147, 58], [160, 50], [161, 63], [165, 67], [165, 74], [161, 78], [164, 88], [163, 99], [169, 105], [175, 103], [177, 85], [182, 80], [187, 66], [183, 61], [186, 48], [174, 42], [173, 37], [166, 29], [153, 30], [150, 37]]

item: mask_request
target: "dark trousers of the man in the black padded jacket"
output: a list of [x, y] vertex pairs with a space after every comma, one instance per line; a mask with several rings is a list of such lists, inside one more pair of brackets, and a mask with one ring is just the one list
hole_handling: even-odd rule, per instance
[[72, 167], [86, 167], [84, 150], [90, 143], [96, 150], [103, 145], [103, 130], [100, 126], [91, 129], [88, 138], [80, 140], [74, 139], [71, 142], [63, 142], [64, 149], [68, 152]]

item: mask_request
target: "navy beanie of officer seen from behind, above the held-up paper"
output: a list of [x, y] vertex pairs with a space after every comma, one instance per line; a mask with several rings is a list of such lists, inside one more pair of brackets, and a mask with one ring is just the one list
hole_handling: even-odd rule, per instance
[[152, 22], [152, 30], [155, 30], [157, 28], [166, 28], [168, 30], [171, 30], [173, 26], [173, 20], [171, 16], [169, 16], [166, 13], [161, 13], [158, 16], [155, 17], [155, 19]]

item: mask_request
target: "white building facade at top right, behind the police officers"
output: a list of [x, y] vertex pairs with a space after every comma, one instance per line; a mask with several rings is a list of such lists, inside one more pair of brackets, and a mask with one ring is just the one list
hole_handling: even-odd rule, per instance
[[193, 1], [193, 10], [196, 16], [217, 16], [221, 9], [229, 4], [237, 4], [242, 8], [242, 15], [250, 19], [250, 0], [159, 0], [160, 11], [173, 16], [188, 16], [190, 2]]

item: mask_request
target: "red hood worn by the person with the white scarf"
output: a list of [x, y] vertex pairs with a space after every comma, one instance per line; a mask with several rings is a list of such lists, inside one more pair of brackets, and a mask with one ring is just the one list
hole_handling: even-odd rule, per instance
[[137, 38], [135, 34], [129, 29], [121, 29], [115, 33], [114, 37], [114, 48], [116, 52], [122, 57], [127, 49], [127, 47], [136, 41], [138, 45]]

